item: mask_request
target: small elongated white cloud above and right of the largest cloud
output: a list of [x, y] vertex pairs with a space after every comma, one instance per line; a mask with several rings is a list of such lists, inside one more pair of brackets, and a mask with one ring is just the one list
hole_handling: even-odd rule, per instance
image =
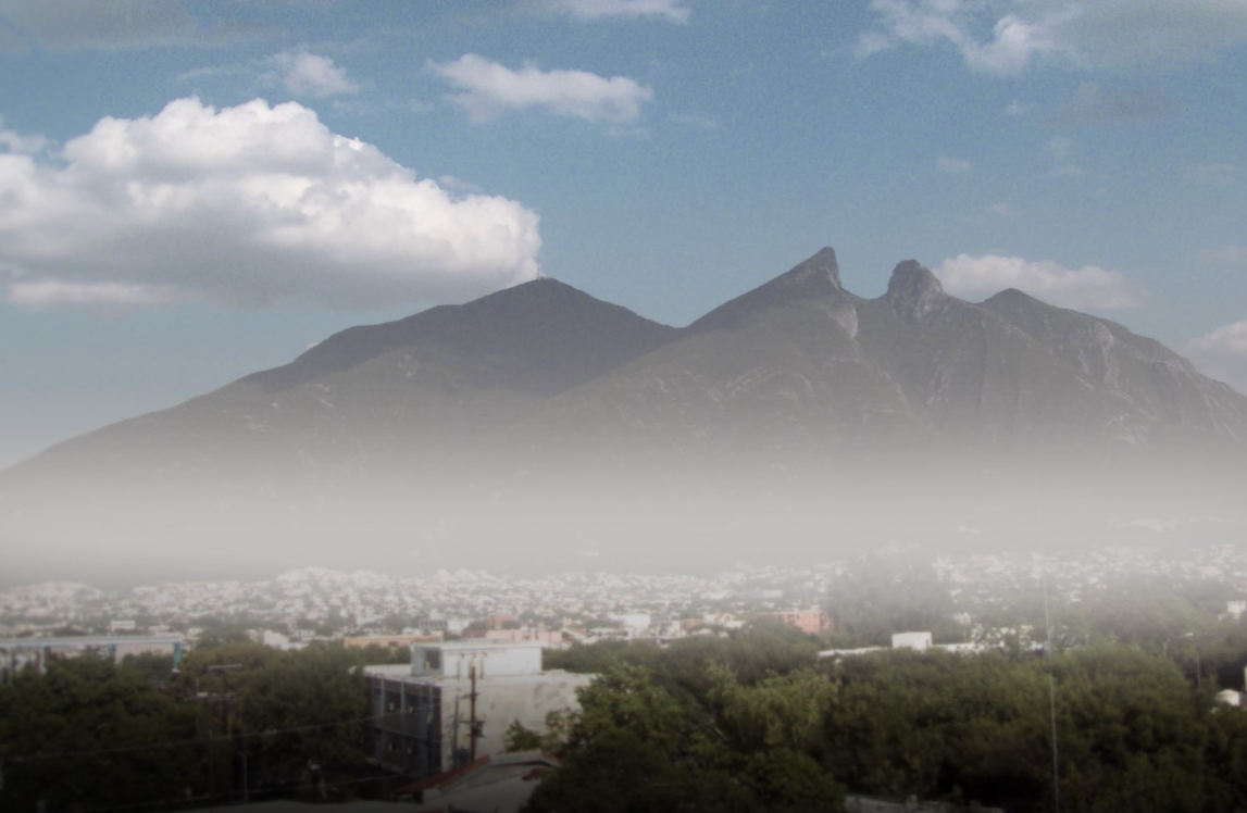
[[429, 69], [458, 89], [449, 99], [478, 122], [536, 107], [557, 116], [625, 123], [641, 115], [641, 102], [653, 99], [650, 87], [626, 76], [542, 71], [532, 64], [513, 71], [475, 54], [445, 65], [430, 62]]

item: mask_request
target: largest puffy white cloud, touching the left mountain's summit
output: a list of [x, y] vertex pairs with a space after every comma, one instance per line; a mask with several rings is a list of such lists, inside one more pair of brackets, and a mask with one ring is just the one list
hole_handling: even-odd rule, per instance
[[464, 299], [539, 276], [537, 219], [418, 178], [297, 102], [181, 99], [47, 158], [0, 152], [0, 269], [27, 307]]

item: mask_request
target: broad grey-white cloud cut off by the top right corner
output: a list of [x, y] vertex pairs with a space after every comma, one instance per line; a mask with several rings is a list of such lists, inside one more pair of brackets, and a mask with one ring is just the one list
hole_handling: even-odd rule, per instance
[[1242, 0], [872, 0], [878, 27], [858, 52], [950, 46], [974, 70], [1035, 64], [1124, 70], [1206, 60], [1247, 44]]

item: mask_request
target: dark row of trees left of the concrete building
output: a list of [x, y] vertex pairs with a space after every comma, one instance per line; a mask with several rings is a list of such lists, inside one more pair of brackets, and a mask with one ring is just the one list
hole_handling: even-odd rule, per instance
[[[104, 811], [323, 796], [364, 763], [368, 696], [354, 670], [383, 653], [256, 643], [121, 663], [52, 657], [0, 685], [0, 809]], [[244, 771], [246, 769], [246, 771]]]

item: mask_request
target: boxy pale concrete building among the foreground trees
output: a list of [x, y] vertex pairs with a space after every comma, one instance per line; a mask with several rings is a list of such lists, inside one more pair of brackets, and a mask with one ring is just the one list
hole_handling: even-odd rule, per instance
[[549, 712], [579, 708], [592, 675], [541, 670], [535, 642], [454, 641], [412, 647], [410, 666], [369, 666], [372, 756], [414, 779], [503, 751], [519, 721], [544, 732]]

